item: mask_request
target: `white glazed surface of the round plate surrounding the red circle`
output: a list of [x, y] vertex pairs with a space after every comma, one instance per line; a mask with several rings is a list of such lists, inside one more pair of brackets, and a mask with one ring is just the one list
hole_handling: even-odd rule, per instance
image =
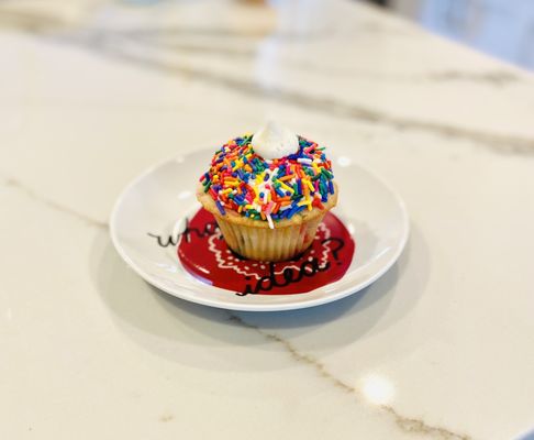
[[356, 241], [356, 253], [343, 278], [305, 294], [248, 295], [201, 283], [181, 266], [176, 248], [160, 248], [148, 232], [173, 235], [200, 208], [194, 189], [212, 150], [176, 157], [149, 168], [120, 196], [111, 216], [111, 238], [124, 261], [146, 282], [179, 298], [233, 310], [290, 310], [331, 302], [375, 282], [397, 261], [409, 233], [404, 204], [351, 157], [334, 161], [340, 205], [334, 213]]

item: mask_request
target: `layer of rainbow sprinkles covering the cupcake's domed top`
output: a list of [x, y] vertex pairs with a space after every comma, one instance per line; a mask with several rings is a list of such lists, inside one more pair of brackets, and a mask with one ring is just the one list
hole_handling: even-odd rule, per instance
[[225, 215], [233, 210], [269, 228], [304, 209], [324, 209], [334, 194], [332, 163], [324, 147], [299, 136], [299, 151], [267, 161], [254, 153], [252, 134], [224, 144], [213, 156], [208, 173], [200, 177], [204, 193]]

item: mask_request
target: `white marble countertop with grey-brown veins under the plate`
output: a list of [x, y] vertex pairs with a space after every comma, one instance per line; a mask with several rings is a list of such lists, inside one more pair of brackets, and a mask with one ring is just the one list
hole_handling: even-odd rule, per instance
[[[1, 439], [534, 426], [533, 77], [368, 7], [278, 3], [0, 4]], [[387, 177], [407, 251], [294, 312], [155, 292], [111, 245], [116, 196], [266, 114]]]

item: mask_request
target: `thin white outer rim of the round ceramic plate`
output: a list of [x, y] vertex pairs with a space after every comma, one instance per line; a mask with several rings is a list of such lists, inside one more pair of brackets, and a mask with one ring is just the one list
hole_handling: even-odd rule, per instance
[[[336, 292], [331, 295], [322, 296], [319, 298], [310, 299], [308, 301], [297, 301], [297, 302], [282, 302], [282, 304], [251, 304], [251, 302], [243, 302], [243, 304], [223, 304], [219, 300], [212, 299], [212, 298], [202, 298], [202, 297], [194, 297], [191, 298], [187, 293], [191, 292], [188, 290], [187, 288], [177, 288], [177, 289], [169, 289], [166, 286], [162, 285], [157, 279], [151, 277], [148, 274], [146, 274], [127, 254], [127, 252], [123, 249], [120, 239], [118, 237], [118, 231], [115, 230], [115, 222], [116, 222], [116, 217], [120, 211], [120, 207], [126, 195], [130, 193], [130, 190], [135, 187], [141, 180], [143, 180], [146, 176], [149, 174], [154, 173], [157, 168], [164, 166], [165, 164], [176, 161], [178, 157], [183, 157], [187, 158], [188, 155], [198, 153], [198, 152], [209, 152], [211, 150], [209, 148], [198, 148], [197, 151], [188, 152], [186, 154], [174, 154], [173, 156], [169, 156], [163, 161], [158, 161], [157, 163], [148, 166], [145, 168], [142, 173], [136, 175], [125, 187], [124, 189], [120, 193], [119, 197], [116, 198], [113, 208], [111, 210], [111, 216], [110, 216], [110, 235], [111, 235], [111, 241], [113, 243], [113, 246], [115, 248], [115, 251], [119, 253], [119, 255], [124, 260], [124, 262], [138, 275], [141, 278], [143, 278], [146, 283], [149, 285], [158, 288], [162, 292], [165, 292], [168, 295], [171, 295], [174, 297], [180, 298], [182, 300], [193, 302], [193, 304], [200, 304], [202, 306], [209, 306], [209, 307], [215, 307], [219, 309], [225, 309], [225, 310], [236, 310], [236, 311], [286, 311], [286, 310], [297, 310], [297, 309], [303, 309], [303, 308], [309, 308], [309, 307], [316, 307], [321, 306], [324, 304], [333, 302], [338, 299], [346, 298], [347, 296], [357, 294], [358, 292], [363, 290], [364, 288], [368, 287], [372, 283], [375, 283], [378, 278], [380, 278], [383, 274], [386, 274], [391, 266], [399, 260], [400, 255], [404, 251], [405, 244], [408, 242], [408, 239], [410, 237], [410, 218], [408, 216], [408, 209], [405, 206], [404, 200], [400, 197], [399, 193], [389, 184], [387, 183], [380, 175], [375, 173], [372, 169], [368, 168], [365, 165], [361, 165], [360, 162], [358, 161], [353, 161], [352, 164], [358, 166], [359, 168], [364, 169], [366, 173], [368, 173], [374, 179], [380, 183], [388, 193], [390, 193], [397, 204], [400, 207], [400, 213], [401, 213], [401, 223], [402, 223], [402, 230], [403, 234], [401, 237], [400, 243], [397, 248], [397, 251], [392, 254], [390, 260], [385, 264], [380, 270], [378, 270], [372, 276], [370, 276], [368, 279], [353, 285], [351, 287], [346, 287], [341, 289], [340, 292]], [[341, 156], [347, 156], [347, 154], [340, 155]], [[336, 155], [332, 155], [332, 158], [335, 160]], [[343, 277], [341, 278], [343, 279]], [[340, 279], [340, 280], [341, 280]], [[327, 284], [330, 285], [330, 284]], [[326, 285], [326, 286], [327, 286]], [[324, 286], [322, 286], [324, 287]], [[319, 287], [321, 288], [321, 287]], [[186, 292], [183, 295], [181, 295], [182, 292]], [[313, 292], [313, 290], [312, 290]], [[302, 294], [293, 294], [293, 295], [305, 295], [309, 294], [302, 293]], [[288, 295], [292, 296], [292, 295]]]

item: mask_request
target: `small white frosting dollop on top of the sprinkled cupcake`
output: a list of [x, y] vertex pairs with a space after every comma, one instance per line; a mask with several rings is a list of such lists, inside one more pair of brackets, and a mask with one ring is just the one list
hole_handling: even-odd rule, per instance
[[265, 160], [281, 158], [299, 151], [297, 134], [275, 121], [257, 131], [251, 143], [254, 152]]

